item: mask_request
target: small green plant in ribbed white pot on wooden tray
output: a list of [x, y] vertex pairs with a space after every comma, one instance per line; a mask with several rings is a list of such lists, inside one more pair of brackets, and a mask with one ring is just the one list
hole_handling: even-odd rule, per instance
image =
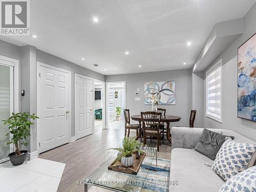
[[140, 142], [134, 139], [129, 139], [128, 137], [124, 137], [123, 146], [120, 148], [110, 148], [109, 150], [118, 151], [118, 155], [116, 161], [120, 161], [123, 166], [130, 167], [133, 165], [134, 156], [133, 154], [136, 152], [140, 152], [143, 154], [144, 152], [139, 150]]

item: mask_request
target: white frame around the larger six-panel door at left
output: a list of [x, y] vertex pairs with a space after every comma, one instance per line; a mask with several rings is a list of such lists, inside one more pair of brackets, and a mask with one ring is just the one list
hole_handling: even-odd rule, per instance
[[[40, 114], [39, 114], [39, 66], [42, 66], [42, 67], [46, 67], [46, 68], [49, 68], [49, 69], [53, 69], [53, 70], [57, 70], [57, 71], [61, 71], [61, 72], [64, 72], [64, 73], [68, 73], [70, 75], [70, 79], [67, 81], [67, 84], [68, 84], [68, 87], [69, 87], [69, 111], [70, 111], [70, 115], [69, 115], [69, 142], [71, 142], [71, 116], [72, 116], [72, 106], [71, 106], [71, 71], [68, 71], [68, 70], [65, 70], [65, 69], [61, 69], [61, 68], [58, 68], [58, 67], [54, 67], [54, 66], [51, 66], [49, 64], [46, 64], [46, 63], [43, 63], [43, 62], [39, 62], [39, 61], [36, 61], [36, 114], [37, 116], [40, 117]], [[39, 156], [40, 154], [40, 147], [39, 147], [39, 142], [40, 142], [40, 119], [37, 119], [36, 121], [36, 148], [37, 148], [37, 154]]]

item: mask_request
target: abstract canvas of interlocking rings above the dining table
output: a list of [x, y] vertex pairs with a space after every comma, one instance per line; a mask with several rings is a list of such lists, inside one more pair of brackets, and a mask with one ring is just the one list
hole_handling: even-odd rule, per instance
[[159, 105], [176, 104], [175, 81], [145, 82], [144, 104], [152, 104], [153, 99], [159, 99]]

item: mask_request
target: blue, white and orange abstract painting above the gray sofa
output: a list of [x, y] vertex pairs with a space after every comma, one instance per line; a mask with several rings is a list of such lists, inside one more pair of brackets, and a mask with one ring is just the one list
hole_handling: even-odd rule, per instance
[[256, 34], [238, 48], [238, 117], [256, 121]]

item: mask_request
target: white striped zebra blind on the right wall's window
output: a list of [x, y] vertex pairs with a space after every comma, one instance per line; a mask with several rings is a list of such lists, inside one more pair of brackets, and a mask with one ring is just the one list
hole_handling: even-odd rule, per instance
[[206, 116], [221, 121], [221, 64], [219, 60], [206, 72]]

